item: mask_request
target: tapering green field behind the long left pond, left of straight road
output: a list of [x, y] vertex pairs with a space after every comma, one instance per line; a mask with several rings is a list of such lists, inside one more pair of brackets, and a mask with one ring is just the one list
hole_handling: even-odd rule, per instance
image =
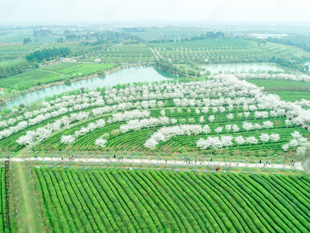
[[146, 44], [119, 45], [109, 50], [96, 53], [94, 56], [83, 59], [83, 62], [153, 62], [154, 57]]

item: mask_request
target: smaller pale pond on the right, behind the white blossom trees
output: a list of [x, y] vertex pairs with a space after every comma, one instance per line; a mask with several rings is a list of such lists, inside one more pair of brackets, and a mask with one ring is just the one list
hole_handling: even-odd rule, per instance
[[[236, 70], [240, 72], [242, 69], [244, 69], [245, 72], [249, 71], [250, 69], [253, 69], [254, 71], [257, 71], [260, 69], [261, 71], [290, 71], [289, 69], [284, 68], [283, 66], [280, 66], [276, 63], [269, 63], [269, 62], [263, 62], [263, 63], [228, 63], [228, 64], [203, 64], [199, 65], [201, 68], [206, 68], [206, 70], [211, 71], [211, 74], [218, 73], [219, 71], [230, 71], [235, 72]], [[300, 74], [299, 72], [295, 72], [297, 74]]]

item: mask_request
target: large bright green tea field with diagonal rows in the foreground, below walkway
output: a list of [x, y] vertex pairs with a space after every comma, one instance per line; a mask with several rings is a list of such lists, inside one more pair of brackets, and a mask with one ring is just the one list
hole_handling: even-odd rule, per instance
[[52, 232], [310, 231], [306, 176], [63, 168], [35, 172]]

